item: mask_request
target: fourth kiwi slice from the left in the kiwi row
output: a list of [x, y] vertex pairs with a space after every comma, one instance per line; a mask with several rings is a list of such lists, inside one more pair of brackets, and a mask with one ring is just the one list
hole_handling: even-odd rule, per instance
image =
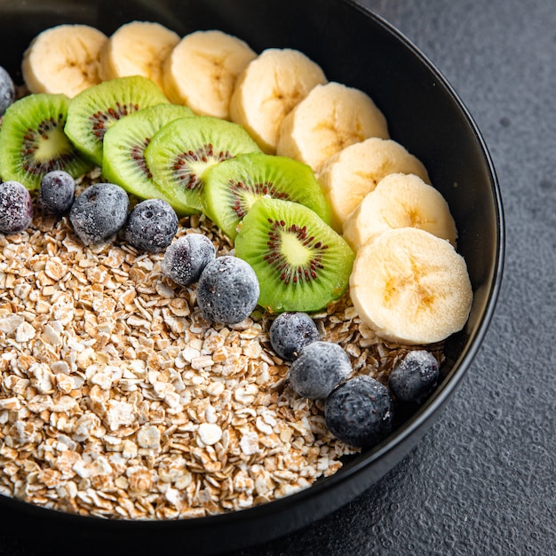
[[204, 174], [212, 166], [260, 148], [238, 123], [212, 116], [181, 118], [155, 133], [145, 157], [157, 187], [184, 213], [204, 210]]

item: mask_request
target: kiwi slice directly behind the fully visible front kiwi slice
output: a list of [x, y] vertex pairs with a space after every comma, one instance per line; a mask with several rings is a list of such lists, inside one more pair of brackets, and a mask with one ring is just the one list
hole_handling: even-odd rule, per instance
[[232, 240], [250, 207], [265, 195], [304, 204], [330, 224], [330, 206], [313, 170], [286, 156], [238, 155], [204, 176], [206, 213]]

